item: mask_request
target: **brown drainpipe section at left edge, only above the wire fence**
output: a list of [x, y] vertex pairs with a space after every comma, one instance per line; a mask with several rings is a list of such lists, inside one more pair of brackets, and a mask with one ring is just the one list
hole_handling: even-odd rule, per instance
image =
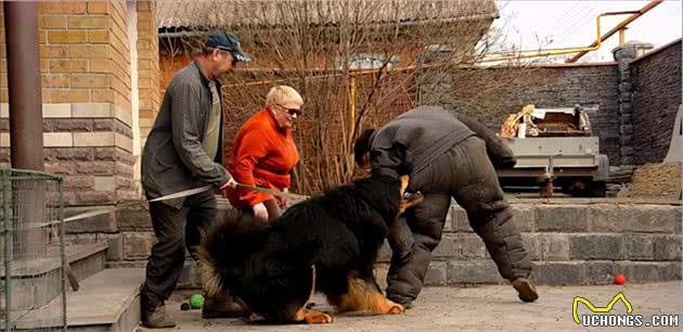
[[4, 1], [12, 167], [43, 170], [38, 2]]

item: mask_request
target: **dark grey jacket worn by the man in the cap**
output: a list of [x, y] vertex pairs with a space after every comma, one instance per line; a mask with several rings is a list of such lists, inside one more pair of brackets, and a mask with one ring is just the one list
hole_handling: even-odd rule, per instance
[[[154, 199], [206, 186], [220, 187], [230, 175], [221, 166], [222, 139], [216, 158], [202, 149], [211, 107], [209, 80], [196, 62], [178, 72], [166, 89], [164, 101], [142, 152], [142, 186]], [[220, 91], [220, 85], [216, 82]], [[222, 132], [222, 112], [221, 112]], [[180, 207], [184, 200], [164, 201]]]

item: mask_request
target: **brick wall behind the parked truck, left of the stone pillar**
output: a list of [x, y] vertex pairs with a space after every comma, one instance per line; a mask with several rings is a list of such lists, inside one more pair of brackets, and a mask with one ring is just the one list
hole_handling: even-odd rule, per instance
[[[422, 80], [424, 81], [424, 79]], [[619, 165], [618, 69], [616, 64], [555, 65], [529, 68], [461, 68], [448, 79], [439, 79], [450, 93], [435, 98], [459, 112], [485, 119], [497, 130], [506, 115], [524, 104], [537, 107], [581, 104], [589, 112], [601, 153]], [[426, 92], [438, 88], [428, 81], [421, 87], [421, 104], [430, 103]], [[439, 93], [439, 92], [436, 92]]]

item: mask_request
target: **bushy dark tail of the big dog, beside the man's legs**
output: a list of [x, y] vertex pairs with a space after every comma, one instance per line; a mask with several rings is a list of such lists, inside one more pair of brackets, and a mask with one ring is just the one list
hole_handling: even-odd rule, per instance
[[214, 297], [230, 288], [232, 268], [254, 252], [265, 239], [267, 222], [234, 208], [219, 209], [196, 252], [206, 295]]

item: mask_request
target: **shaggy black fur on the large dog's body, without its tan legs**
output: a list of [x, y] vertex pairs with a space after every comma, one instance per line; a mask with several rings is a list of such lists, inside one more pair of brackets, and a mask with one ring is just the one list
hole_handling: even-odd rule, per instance
[[[348, 261], [374, 263], [378, 248], [374, 246], [398, 216], [399, 189], [398, 179], [356, 180], [289, 207], [270, 224], [237, 210], [221, 212], [197, 253], [207, 295], [259, 284], [248, 296], [267, 298], [267, 288], [279, 282], [280, 269], [300, 271], [312, 264], [320, 264], [319, 281], [327, 289], [331, 283], [346, 288], [345, 274], [352, 269]], [[347, 263], [335, 265], [338, 259]]]

